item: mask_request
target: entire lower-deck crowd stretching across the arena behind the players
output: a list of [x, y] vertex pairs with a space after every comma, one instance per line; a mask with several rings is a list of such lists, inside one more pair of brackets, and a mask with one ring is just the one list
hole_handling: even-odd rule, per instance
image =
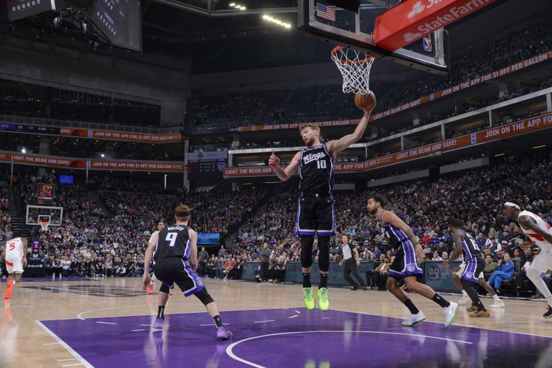
[[[32, 175], [19, 176], [21, 199], [33, 203], [35, 183]], [[105, 179], [97, 179], [96, 185]], [[465, 228], [484, 249], [486, 277], [500, 290], [511, 273], [510, 260], [523, 265], [538, 249], [520, 248], [522, 233], [515, 223], [504, 218], [502, 204], [520, 198], [524, 207], [552, 223], [552, 156], [510, 156], [490, 167], [437, 181], [416, 181], [378, 188], [391, 209], [420, 237], [427, 260], [445, 260], [452, 251], [449, 220], [462, 219]], [[54, 205], [65, 209], [63, 223], [41, 239], [38, 258], [49, 275], [63, 276], [140, 276], [144, 272], [144, 251], [157, 221], [172, 221], [179, 201], [169, 194], [142, 192], [144, 183], [112, 178], [101, 190], [91, 185], [57, 185]], [[124, 187], [125, 190], [121, 190]], [[268, 263], [259, 278], [283, 280], [289, 261], [300, 260], [299, 238], [295, 235], [298, 190], [281, 185], [270, 190], [242, 192], [190, 193], [185, 201], [193, 208], [190, 225], [197, 232], [220, 232], [233, 238], [228, 249], [199, 252], [199, 274], [209, 278], [240, 278], [244, 262]], [[382, 287], [386, 265], [397, 249], [388, 244], [374, 218], [365, 211], [368, 192], [339, 191], [335, 199], [337, 236], [331, 241], [331, 260], [339, 261], [339, 236], [347, 234], [359, 247], [362, 260], [380, 260], [378, 274], [368, 275], [368, 285]], [[3, 236], [9, 215], [1, 213]], [[201, 245], [200, 245], [201, 247]], [[264, 250], [265, 249], [265, 250]], [[313, 260], [318, 258], [317, 244]], [[507, 264], [507, 265], [506, 265]], [[493, 272], [501, 272], [493, 274]], [[524, 270], [516, 271], [520, 289], [530, 281]], [[495, 276], [493, 276], [495, 275]], [[546, 276], [548, 275], [548, 276]], [[549, 281], [550, 274], [543, 274]]]

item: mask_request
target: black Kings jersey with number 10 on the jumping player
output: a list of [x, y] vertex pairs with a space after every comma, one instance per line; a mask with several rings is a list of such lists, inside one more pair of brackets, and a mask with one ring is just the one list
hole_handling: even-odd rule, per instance
[[301, 151], [299, 189], [303, 193], [330, 194], [333, 187], [333, 157], [326, 144]]

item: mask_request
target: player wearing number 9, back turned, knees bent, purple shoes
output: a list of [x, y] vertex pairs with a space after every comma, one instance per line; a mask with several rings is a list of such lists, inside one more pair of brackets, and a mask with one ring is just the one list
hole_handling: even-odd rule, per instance
[[153, 255], [153, 272], [162, 285], [159, 289], [159, 310], [153, 324], [154, 329], [163, 328], [165, 320], [165, 306], [168, 300], [169, 289], [175, 284], [184, 293], [184, 296], [195, 295], [203, 303], [217, 326], [217, 340], [232, 338], [220, 318], [219, 309], [215, 300], [211, 298], [201, 278], [197, 276], [197, 233], [188, 227], [191, 211], [186, 205], [179, 205], [175, 209], [175, 225], [168, 225], [156, 234], [156, 238], [146, 249], [144, 260], [144, 280], [142, 291], [146, 292], [150, 284], [150, 261]]

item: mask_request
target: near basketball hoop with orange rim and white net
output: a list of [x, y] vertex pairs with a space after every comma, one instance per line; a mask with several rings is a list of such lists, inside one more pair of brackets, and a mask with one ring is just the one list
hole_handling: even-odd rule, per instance
[[336, 46], [333, 48], [332, 60], [343, 76], [343, 92], [367, 94], [370, 92], [370, 69], [373, 57], [357, 50]]

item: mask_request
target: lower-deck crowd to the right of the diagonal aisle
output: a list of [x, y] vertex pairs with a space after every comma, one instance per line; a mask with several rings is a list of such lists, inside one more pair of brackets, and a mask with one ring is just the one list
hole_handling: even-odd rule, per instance
[[[493, 167], [458, 177], [380, 190], [385, 193], [388, 209], [394, 210], [420, 237], [426, 259], [448, 259], [452, 251], [448, 221], [458, 217], [493, 262], [500, 265], [506, 253], [524, 262], [531, 251], [526, 254], [519, 247], [522, 233], [515, 223], [504, 218], [502, 204], [509, 198], [520, 198], [526, 209], [552, 224], [551, 159], [549, 154], [512, 156]], [[256, 216], [240, 226], [235, 237], [239, 253], [246, 260], [259, 260], [264, 243], [270, 245], [276, 258], [285, 252], [286, 258], [299, 260], [299, 238], [295, 236], [297, 195], [296, 188], [276, 190]], [[380, 260], [382, 253], [382, 260], [391, 260], [396, 249], [388, 246], [377, 221], [364, 212], [368, 192], [335, 192], [333, 197], [337, 236], [332, 238], [331, 259], [339, 260], [336, 240], [347, 234], [359, 245], [363, 260]], [[317, 252], [313, 257], [317, 259]]]

